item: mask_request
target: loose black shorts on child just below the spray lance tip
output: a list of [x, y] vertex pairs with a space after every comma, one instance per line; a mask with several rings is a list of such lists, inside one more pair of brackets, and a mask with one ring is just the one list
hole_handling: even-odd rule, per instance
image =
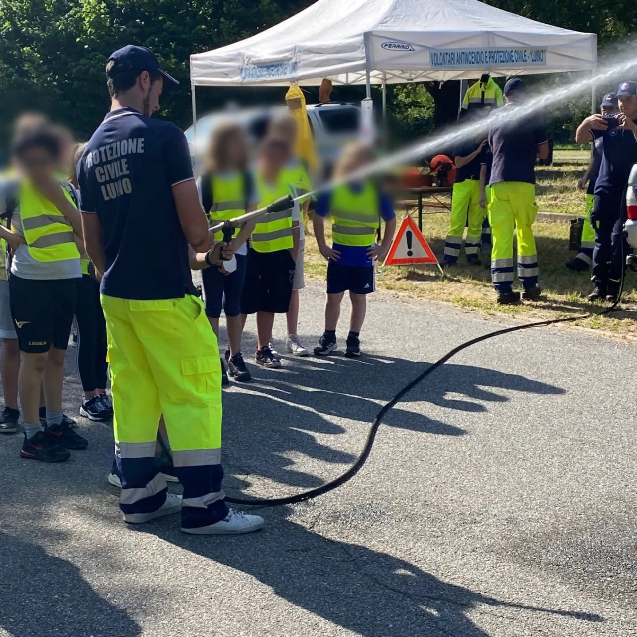
[[287, 312], [292, 297], [296, 264], [289, 250], [257, 252], [248, 250], [241, 312]]

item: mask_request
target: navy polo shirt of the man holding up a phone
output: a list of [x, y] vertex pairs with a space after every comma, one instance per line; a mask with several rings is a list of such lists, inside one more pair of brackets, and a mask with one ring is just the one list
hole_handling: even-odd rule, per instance
[[599, 175], [594, 194], [620, 197], [637, 162], [637, 141], [631, 131], [622, 128], [590, 131], [593, 138], [603, 140]]

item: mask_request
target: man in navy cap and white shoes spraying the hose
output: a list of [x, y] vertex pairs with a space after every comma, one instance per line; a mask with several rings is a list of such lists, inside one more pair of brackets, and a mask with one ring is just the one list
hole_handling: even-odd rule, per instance
[[[181, 511], [186, 533], [248, 533], [263, 519], [224, 501], [217, 338], [188, 261], [190, 245], [221, 266], [224, 244], [208, 232], [182, 131], [150, 118], [177, 82], [132, 45], [111, 55], [106, 78], [111, 111], [77, 174], [85, 244], [101, 276], [120, 508], [131, 523]], [[183, 501], [154, 464], [161, 415]]]

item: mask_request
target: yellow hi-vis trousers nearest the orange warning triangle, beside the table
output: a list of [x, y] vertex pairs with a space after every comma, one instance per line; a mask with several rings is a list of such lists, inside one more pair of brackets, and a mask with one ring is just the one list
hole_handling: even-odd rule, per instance
[[467, 220], [469, 220], [469, 227], [464, 242], [464, 254], [467, 259], [478, 256], [482, 222], [486, 215], [485, 208], [480, 208], [480, 182], [477, 179], [455, 182], [451, 199], [449, 233], [445, 240], [445, 263], [455, 263], [458, 260]]

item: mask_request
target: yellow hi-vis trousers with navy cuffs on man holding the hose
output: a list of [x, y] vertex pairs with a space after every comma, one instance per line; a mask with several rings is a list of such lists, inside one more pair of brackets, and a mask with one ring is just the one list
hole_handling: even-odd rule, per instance
[[218, 522], [227, 515], [221, 490], [221, 370], [203, 303], [190, 295], [138, 301], [103, 294], [101, 300], [122, 511], [154, 511], [166, 499], [166, 483], [154, 466], [163, 414], [175, 475], [183, 485], [182, 526]]

